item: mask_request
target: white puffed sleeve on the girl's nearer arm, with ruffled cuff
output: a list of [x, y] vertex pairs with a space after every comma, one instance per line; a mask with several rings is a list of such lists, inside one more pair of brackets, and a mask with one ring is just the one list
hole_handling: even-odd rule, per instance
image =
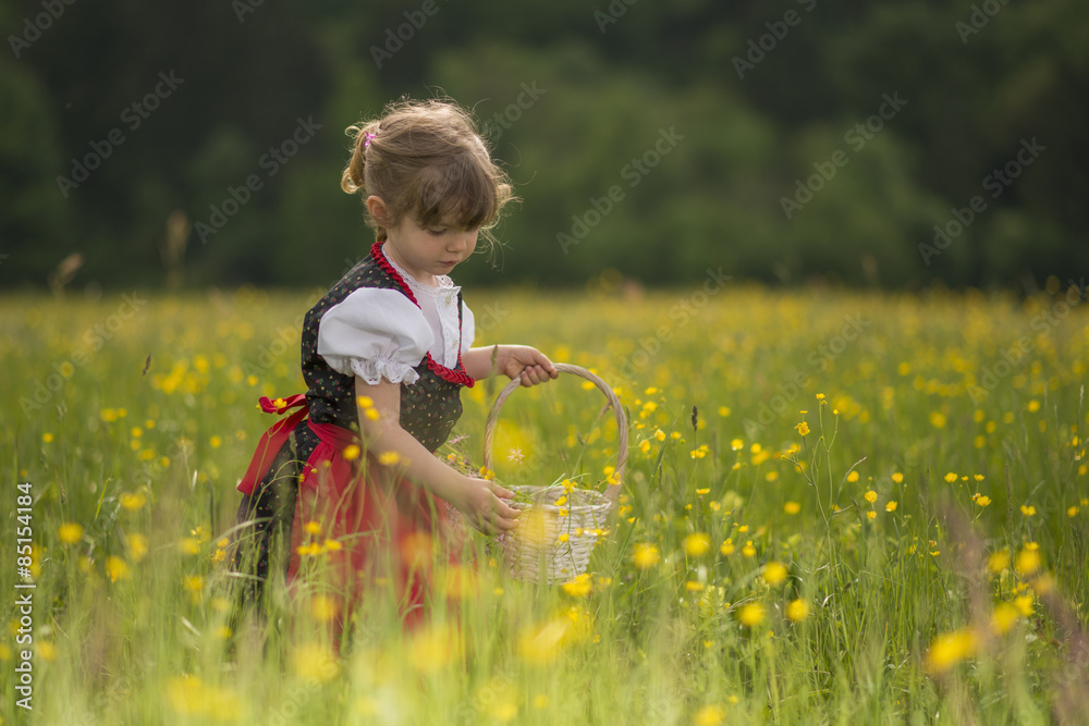
[[419, 376], [413, 368], [433, 342], [424, 313], [395, 290], [357, 290], [318, 323], [318, 355], [337, 372], [371, 385], [383, 378], [415, 383]]

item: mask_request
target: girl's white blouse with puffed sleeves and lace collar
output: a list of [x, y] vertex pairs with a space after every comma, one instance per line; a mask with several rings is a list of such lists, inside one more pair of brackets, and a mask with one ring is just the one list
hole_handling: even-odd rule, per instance
[[[389, 258], [387, 258], [389, 259]], [[457, 366], [458, 353], [473, 346], [476, 323], [462, 304], [461, 335], [457, 330], [457, 293], [461, 287], [446, 276], [436, 276], [438, 287], [424, 285], [401, 273], [420, 307], [397, 290], [360, 287], [326, 310], [318, 322], [318, 355], [345, 376], [355, 374], [370, 385], [384, 378], [391, 383], [415, 383], [413, 370], [431, 354], [446, 368]]]

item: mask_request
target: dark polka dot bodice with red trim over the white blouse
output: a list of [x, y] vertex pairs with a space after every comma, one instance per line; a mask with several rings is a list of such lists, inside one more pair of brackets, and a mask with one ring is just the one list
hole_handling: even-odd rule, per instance
[[[416, 303], [404, 279], [386, 259], [381, 245], [376, 244], [365, 260], [352, 268], [310, 308], [304, 319], [302, 334], [303, 378], [308, 387], [306, 401], [310, 420], [352, 430], [359, 428], [355, 377], [333, 370], [318, 354], [318, 324], [327, 310], [362, 287], [397, 290]], [[461, 310], [461, 295], [457, 308]], [[457, 367], [451, 369], [427, 355], [415, 370], [419, 379], [412, 384], [401, 384], [401, 427], [433, 452], [446, 441], [461, 418], [462, 387], [473, 385], [474, 381], [465, 372], [461, 356]]]

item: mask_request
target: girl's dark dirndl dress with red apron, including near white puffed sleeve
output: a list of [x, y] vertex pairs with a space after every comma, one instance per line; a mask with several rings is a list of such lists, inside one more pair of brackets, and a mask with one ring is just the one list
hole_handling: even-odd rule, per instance
[[442, 538], [449, 505], [383, 466], [381, 452], [367, 450], [358, 433], [355, 377], [400, 382], [401, 427], [433, 453], [461, 417], [461, 390], [474, 384], [461, 359], [473, 321], [460, 290], [448, 290], [445, 297], [456, 296], [457, 330], [448, 311], [442, 332], [451, 339], [448, 358], [456, 345], [456, 365], [437, 362], [427, 350], [436, 327], [421, 315], [412, 318], [420, 305], [405, 275], [376, 243], [304, 318], [307, 393], [260, 399], [266, 413], [287, 417], [261, 436], [238, 483], [233, 568], [246, 601], [258, 599], [272, 575], [293, 581], [307, 557], [320, 554], [340, 578], [348, 607], [367, 581], [381, 579], [399, 589], [406, 622], [420, 617], [429, 553], [444, 544], [436, 538]]

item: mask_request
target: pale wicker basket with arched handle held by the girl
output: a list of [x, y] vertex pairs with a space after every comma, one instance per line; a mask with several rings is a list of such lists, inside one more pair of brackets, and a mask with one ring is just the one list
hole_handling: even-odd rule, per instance
[[[609, 399], [609, 407], [616, 417], [616, 428], [620, 433], [617, 444], [616, 470], [613, 481], [604, 493], [563, 487], [510, 487], [514, 492], [527, 494], [531, 504], [516, 503], [523, 508], [518, 528], [497, 538], [502, 549], [503, 561], [511, 577], [528, 582], [548, 582], [571, 580], [586, 571], [590, 552], [605, 528], [609, 513], [616, 503], [620, 493], [620, 482], [624, 477], [624, 466], [627, 463], [627, 418], [624, 407], [616, 394], [600, 378], [578, 366], [555, 364], [561, 373], [571, 373], [585, 378], [594, 383]], [[491, 408], [484, 434], [484, 465], [491, 468], [491, 448], [495, 438], [495, 424], [503, 403], [516, 389], [521, 387], [519, 379], [507, 383]], [[563, 506], [555, 504], [556, 500], [566, 495]], [[566, 534], [566, 537], [562, 537]]]

